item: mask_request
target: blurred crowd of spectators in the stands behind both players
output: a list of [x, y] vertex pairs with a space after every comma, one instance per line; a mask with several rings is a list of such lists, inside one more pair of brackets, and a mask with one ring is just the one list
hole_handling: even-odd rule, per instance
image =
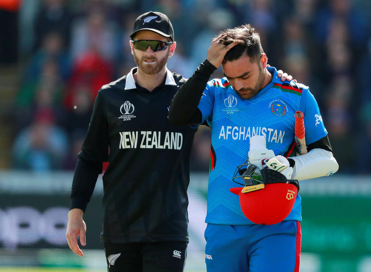
[[[250, 23], [270, 66], [316, 97], [339, 172], [371, 173], [370, 0], [0, 0], [1, 169], [75, 168], [96, 94], [135, 67], [129, 34], [150, 10], [170, 18], [167, 67], [184, 77], [220, 30]], [[201, 127], [191, 171], [209, 157]]]

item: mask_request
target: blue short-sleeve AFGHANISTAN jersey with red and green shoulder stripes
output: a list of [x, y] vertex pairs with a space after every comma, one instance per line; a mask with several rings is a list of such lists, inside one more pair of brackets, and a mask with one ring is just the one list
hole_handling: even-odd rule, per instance
[[[236, 187], [232, 177], [237, 165], [248, 157], [250, 137], [265, 135], [267, 149], [275, 155], [287, 154], [298, 110], [304, 114], [307, 145], [327, 135], [309, 88], [293, 81], [282, 82], [276, 68], [267, 69], [273, 79], [253, 98], [240, 98], [225, 77], [209, 81], [201, 97], [198, 108], [202, 122], [207, 121], [212, 130], [206, 223], [254, 224], [243, 215], [239, 197], [229, 191]], [[302, 220], [299, 194], [285, 220]]]

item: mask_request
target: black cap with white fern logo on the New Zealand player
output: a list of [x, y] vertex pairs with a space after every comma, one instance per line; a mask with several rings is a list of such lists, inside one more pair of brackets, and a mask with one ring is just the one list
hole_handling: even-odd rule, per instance
[[164, 37], [170, 37], [174, 41], [174, 29], [169, 18], [160, 12], [149, 11], [135, 20], [132, 38], [138, 31], [149, 30]]

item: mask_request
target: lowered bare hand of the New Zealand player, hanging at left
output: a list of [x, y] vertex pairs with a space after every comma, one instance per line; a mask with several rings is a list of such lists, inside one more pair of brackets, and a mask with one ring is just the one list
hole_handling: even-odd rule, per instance
[[83, 253], [77, 244], [77, 236], [80, 235], [81, 245], [86, 245], [86, 224], [82, 219], [84, 212], [81, 209], [71, 209], [68, 213], [68, 224], [66, 230], [66, 237], [68, 246], [77, 255], [82, 256]]

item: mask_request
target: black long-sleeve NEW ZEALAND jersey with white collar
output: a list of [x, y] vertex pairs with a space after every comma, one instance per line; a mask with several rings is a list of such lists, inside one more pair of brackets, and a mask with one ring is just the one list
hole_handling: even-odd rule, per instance
[[189, 163], [196, 128], [168, 121], [185, 79], [167, 70], [152, 92], [132, 74], [104, 85], [78, 154], [70, 208], [85, 211], [102, 163], [102, 242], [188, 242]]

